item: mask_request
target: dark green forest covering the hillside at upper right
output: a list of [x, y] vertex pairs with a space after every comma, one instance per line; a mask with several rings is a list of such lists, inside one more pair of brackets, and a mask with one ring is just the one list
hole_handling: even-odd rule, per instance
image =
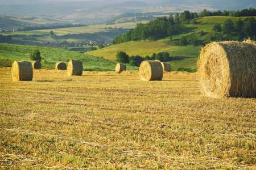
[[188, 36], [183, 36], [179, 40], [172, 40], [173, 35], [179, 34], [179, 30], [189, 22], [197, 24], [196, 18], [204, 16], [256, 16], [256, 10], [250, 8], [242, 11], [216, 11], [210, 12], [207, 10], [201, 11], [199, 15], [197, 13], [184, 11], [179, 15], [176, 13], [175, 17], [170, 14], [167, 19], [156, 18], [148, 23], [137, 23], [137, 27], [130, 29], [129, 32], [124, 35], [115, 37], [112, 41], [113, 44], [120, 44], [128, 41], [141, 41], [141, 40], [160, 40], [166, 37], [170, 37], [171, 43], [174, 45], [204, 45], [210, 41], [223, 41], [223, 40], [243, 40], [246, 37], [251, 37], [255, 40], [256, 35], [256, 20], [254, 17], [246, 18], [245, 20], [239, 19], [237, 23], [227, 19], [224, 25], [214, 25], [213, 33], [209, 33], [208, 39], [200, 40], [200, 36], [204, 36], [207, 32], [192, 33]]

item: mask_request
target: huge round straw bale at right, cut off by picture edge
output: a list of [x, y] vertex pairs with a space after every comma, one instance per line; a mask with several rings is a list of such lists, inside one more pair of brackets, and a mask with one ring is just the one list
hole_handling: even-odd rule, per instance
[[254, 41], [212, 42], [200, 53], [198, 76], [205, 96], [256, 96], [256, 45]]

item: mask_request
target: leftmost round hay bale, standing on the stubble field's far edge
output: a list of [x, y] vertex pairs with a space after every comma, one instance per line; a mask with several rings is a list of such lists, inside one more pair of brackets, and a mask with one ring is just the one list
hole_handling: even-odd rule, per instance
[[31, 81], [33, 78], [33, 67], [30, 61], [14, 61], [11, 67], [14, 81]]

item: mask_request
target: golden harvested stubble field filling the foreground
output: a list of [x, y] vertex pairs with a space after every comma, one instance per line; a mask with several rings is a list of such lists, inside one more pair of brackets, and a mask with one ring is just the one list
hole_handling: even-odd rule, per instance
[[196, 73], [0, 73], [1, 169], [256, 169], [256, 99], [205, 97]]

